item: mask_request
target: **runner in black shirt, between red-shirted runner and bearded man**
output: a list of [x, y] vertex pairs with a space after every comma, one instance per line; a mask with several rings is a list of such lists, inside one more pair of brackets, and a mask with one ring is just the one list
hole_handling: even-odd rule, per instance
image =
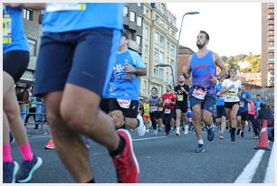
[[[184, 76], [179, 76], [179, 84], [175, 87], [175, 92], [177, 94], [176, 102], [176, 133], [175, 135], [180, 135], [180, 123], [182, 121], [185, 128], [185, 135], [188, 134], [187, 126], [187, 96], [189, 87], [185, 84]], [[182, 118], [181, 118], [182, 116]]]

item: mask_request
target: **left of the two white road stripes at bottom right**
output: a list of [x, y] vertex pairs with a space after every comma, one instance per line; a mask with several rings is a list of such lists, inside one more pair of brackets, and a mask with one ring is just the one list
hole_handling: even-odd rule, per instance
[[264, 150], [256, 152], [251, 159], [250, 163], [246, 165], [244, 171], [237, 177], [234, 183], [249, 183], [253, 179], [253, 175], [257, 171], [257, 168], [263, 158]]

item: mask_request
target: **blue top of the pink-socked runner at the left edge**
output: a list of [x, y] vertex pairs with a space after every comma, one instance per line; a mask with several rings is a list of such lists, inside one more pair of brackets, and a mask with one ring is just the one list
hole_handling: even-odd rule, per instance
[[8, 51], [29, 51], [27, 38], [24, 34], [21, 8], [3, 7], [3, 15], [12, 21], [12, 42], [3, 44], [3, 53]]

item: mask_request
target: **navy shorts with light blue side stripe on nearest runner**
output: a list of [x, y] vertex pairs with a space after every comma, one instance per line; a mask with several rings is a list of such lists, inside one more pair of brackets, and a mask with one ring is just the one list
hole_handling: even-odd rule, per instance
[[119, 48], [120, 30], [93, 28], [43, 33], [35, 72], [35, 94], [62, 91], [66, 83], [102, 96]]

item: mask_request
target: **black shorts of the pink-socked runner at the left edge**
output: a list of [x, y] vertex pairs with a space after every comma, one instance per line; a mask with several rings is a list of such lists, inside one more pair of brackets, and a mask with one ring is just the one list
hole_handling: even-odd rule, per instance
[[30, 59], [29, 51], [8, 51], [3, 54], [3, 70], [18, 81], [27, 69]]

